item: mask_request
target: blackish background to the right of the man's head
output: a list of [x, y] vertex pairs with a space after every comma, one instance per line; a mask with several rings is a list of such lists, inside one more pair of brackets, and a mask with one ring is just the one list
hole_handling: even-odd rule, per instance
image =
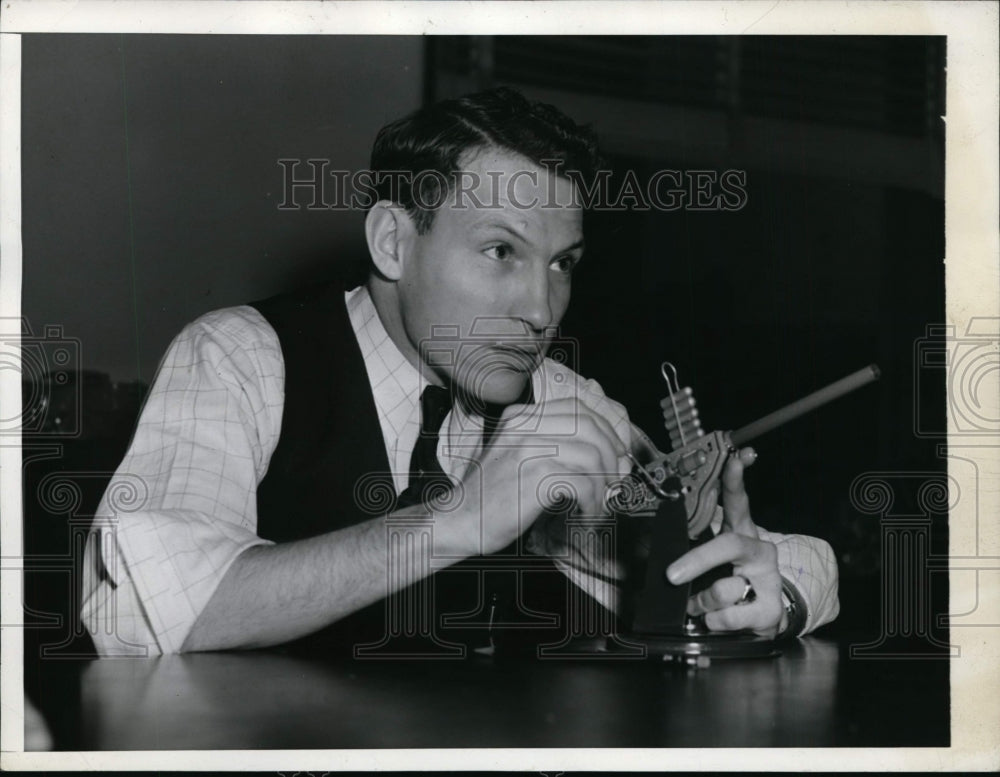
[[[758, 522], [834, 545], [843, 621], [877, 620], [880, 525], [850, 486], [866, 472], [944, 470], [943, 438], [914, 434], [915, 418], [944, 419], [943, 381], [914, 367], [928, 325], [944, 321], [944, 41], [431, 43], [435, 96], [502, 83], [551, 101], [598, 129], [617, 181], [745, 173], [738, 210], [595, 214], [564, 334], [579, 339], [583, 372], [663, 446], [664, 360], [713, 429], [877, 363], [876, 386], [756, 441], [748, 476]], [[896, 507], [921, 512], [914, 494]], [[945, 552], [945, 516], [935, 520]]]

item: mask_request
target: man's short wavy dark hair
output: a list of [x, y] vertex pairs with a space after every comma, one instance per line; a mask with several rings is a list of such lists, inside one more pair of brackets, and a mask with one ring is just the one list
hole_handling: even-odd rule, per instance
[[[466, 152], [490, 147], [520, 154], [539, 166], [589, 181], [604, 164], [597, 136], [552, 105], [497, 87], [421, 108], [379, 130], [371, 170], [380, 200], [402, 205], [419, 234], [455, 184]], [[442, 188], [441, 182], [447, 184]], [[413, 183], [417, 183], [415, 190]]]

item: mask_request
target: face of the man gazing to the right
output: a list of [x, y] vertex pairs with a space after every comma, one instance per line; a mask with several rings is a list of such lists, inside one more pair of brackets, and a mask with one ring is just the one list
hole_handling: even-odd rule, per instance
[[473, 402], [516, 401], [569, 305], [583, 209], [566, 178], [519, 155], [476, 152], [398, 281], [409, 344]]

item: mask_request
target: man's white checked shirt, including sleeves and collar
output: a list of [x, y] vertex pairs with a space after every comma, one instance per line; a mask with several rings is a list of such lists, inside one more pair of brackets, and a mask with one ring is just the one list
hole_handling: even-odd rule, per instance
[[[399, 493], [426, 379], [385, 331], [367, 289], [348, 292], [345, 301]], [[546, 359], [532, 382], [538, 399], [583, 399], [626, 445], [641, 434], [596, 382], [564, 365]], [[82, 615], [102, 655], [178, 652], [230, 564], [249, 547], [271, 544], [256, 534], [256, 492], [278, 443], [283, 403], [281, 348], [256, 309], [208, 313], [171, 344], [87, 543]], [[478, 455], [480, 429], [460, 406], [445, 418], [438, 458], [449, 475], [461, 478]], [[805, 630], [835, 618], [837, 566], [829, 545], [760, 534], [776, 545], [782, 575], [806, 603]], [[612, 583], [556, 564], [614, 607]]]

